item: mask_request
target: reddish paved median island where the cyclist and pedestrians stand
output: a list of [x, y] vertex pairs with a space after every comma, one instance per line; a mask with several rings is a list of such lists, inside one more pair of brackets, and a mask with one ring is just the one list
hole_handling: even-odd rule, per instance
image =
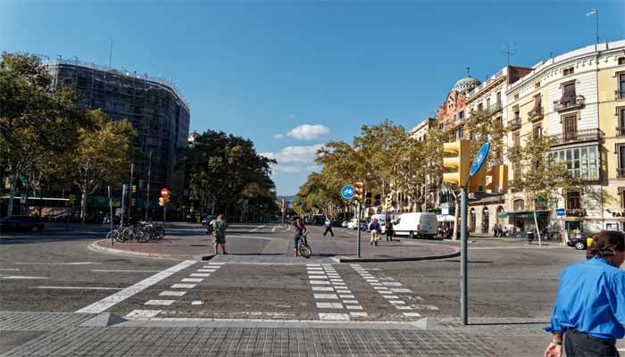
[[[227, 235], [229, 258], [235, 261], [283, 260], [293, 254], [293, 239], [284, 226], [248, 226], [232, 228]], [[257, 230], [254, 230], [257, 229]], [[424, 241], [398, 238], [393, 242], [379, 241], [370, 245], [366, 232], [361, 237], [361, 257], [357, 258], [356, 237], [353, 231], [336, 229], [335, 237], [322, 236], [320, 228], [311, 228], [308, 242], [312, 259], [330, 258], [338, 262], [402, 262], [456, 256], [458, 249], [449, 245], [429, 244]], [[108, 253], [129, 253], [159, 258], [208, 260], [212, 258], [212, 237], [196, 225], [177, 225], [168, 228], [162, 241], [150, 243], [119, 243], [101, 240], [92, 248]], [[245, 258], [241, 258], [245, 257]]]

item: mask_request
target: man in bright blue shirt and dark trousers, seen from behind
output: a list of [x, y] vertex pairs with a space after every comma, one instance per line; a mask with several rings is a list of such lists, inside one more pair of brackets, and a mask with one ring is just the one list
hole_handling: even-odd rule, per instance
[[586, 253], [560, 277], [545, 357], [618, 357], [616, 340], [625, 336], [625, 234], [602, 231]]

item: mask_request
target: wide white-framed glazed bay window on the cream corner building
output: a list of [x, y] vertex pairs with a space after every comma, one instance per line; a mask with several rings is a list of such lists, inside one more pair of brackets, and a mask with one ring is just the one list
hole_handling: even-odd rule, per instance
[[553, 152], [560, 162], [566, 162], [571, 176], [580, 179], [599, 179], [598, 146], [574, 147]]

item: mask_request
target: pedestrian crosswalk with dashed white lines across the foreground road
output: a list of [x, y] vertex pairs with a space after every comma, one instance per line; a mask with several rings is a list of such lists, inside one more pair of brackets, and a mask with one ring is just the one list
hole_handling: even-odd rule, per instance
[[[296, 311], [276, 310], [279, 303], [269, 298], [266, 303], [255, 305], [254, 309], [232, 309], [231, 311], [213, 311], [207, 306], [228, 302], [223, 301], [224, 295], [215, 295], [212, 289], [227, 291], [228, 284], [224, 283], [224, 275], [214, 279], [213, 275], [224, 269], [236, 269], [236, 264], [228, 265], [223, 262], [209, 262], [202, 266], [189, 267], [184, 274], [159, 289], [151, 289], [149, 294], [142, 295], [145, 300], [138, 308], [136, 304], [124, 311], [129, 320], [162, 319], [295, 319], [295, 320], [415, 320], [429, 311], [437, 311], [435, 305], [427, 304], [421, 296], [415, 295], [411, 288], [402, 282], [388, 276], [384, 269], [366, 268], [362, 264], [331, 264], [308, 263], [300, 268], [290, 268], [300, 277], [303, 274], [304, 285], [307, 287], [308, 297], [300, 296], [297, 301], [290, 301], [289, 295], [280, 296], [283, 305], [288, 307], [300, 306]], [[230, 268], [228, 268], [230, 267]], [[281, 270], [276, 267], [279, 276]], [[249, 270], [248, 270], [249, 271]], [[252, 270], [253, 271], [253, 270]], [[354, 274], [354, 271], [356, 274]], [[244, 278], [244, 277], [237, 277]], [[213, 286], [213, 287], [212, 287]], [[304, 286], [303, 286], [304, 287]], [[297, 288], [297, 286], [280, 286], [281, 289]], [[153, 291], [155, 290], [155, 291]], [[195, 293], [194, 293], [195, 291]], [[288, 291], [288, 290], [287, 290]], [[218, 297], [221, 296], [221, 297]], [[250, 296], [253, 296], [250, 295]], [[246, 291], [237, 296], [237, 300], [245, 301]], [[242, 306], [251, 306], [243, 303]], [[259, 308], [260, 306], [260, 308]], [[265, 306], [265, 308], [262, 308]]]

